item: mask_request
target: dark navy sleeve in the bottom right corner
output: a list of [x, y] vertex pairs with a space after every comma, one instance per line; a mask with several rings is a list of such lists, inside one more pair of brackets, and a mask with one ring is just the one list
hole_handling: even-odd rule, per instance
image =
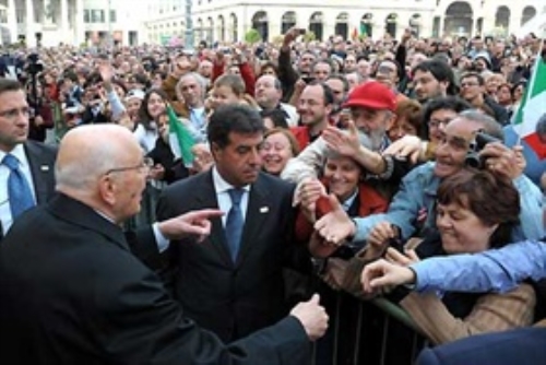
[[424, 350], [417, 365], [536, 365], [546, 358], [546, 329], [480, 334]]

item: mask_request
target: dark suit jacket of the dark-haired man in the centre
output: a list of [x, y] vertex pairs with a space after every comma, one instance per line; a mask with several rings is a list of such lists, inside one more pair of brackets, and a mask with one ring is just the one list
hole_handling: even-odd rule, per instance
[[[229, 257], [222, 220], [212, 222], [203, 243], [171, 243], [174, 293], [188, 316], [224, 341], [270, 326], [284, 315], [282, 268], [292, 246], [294, 186], [260, 174], [252, 185], [238, 258]], [[167, 187], [157, 220], [203, 208], [217, 208], [212, 172]]]

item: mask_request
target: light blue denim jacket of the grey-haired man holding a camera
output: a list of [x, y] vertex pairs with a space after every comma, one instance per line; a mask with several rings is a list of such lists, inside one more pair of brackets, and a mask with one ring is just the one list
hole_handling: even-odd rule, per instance
[[[356, 219], [357, 233], [353, 242], [365, 242], [373, 226], [383, 221], [400, 227], [402, 239], [436, 229], [436, 191], [440, 178], [435, 176], [434, 168], [435, 163], [428, 162], [412, 169], [402, 179], [387, 213]], [[544, 235], [542, 192], [525, 175], [515, 178], [513, 184], [520, 192], [521, 204], [520, 226], [513, 231], [513, 242], [538, 239]]]

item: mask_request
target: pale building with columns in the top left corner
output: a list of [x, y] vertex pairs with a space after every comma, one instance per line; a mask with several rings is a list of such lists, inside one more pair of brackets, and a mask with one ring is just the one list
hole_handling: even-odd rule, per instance
[[146, 42], [142, 28], [147, 1], [131, 0], [1, 0], [2, 44], [28, 46]]

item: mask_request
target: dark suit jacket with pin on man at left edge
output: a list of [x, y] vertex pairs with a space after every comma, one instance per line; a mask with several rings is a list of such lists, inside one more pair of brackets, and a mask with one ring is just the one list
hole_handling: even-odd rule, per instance
[[[31, 166], [34, 180], [34, 193], [38, 204], [47, 202], [55, 193], [55, 161], [57, 149], [40, 142], [27, 141], [24, 143], [26, 158]], [[3, 228], [0, 223], [0, 240]]]

